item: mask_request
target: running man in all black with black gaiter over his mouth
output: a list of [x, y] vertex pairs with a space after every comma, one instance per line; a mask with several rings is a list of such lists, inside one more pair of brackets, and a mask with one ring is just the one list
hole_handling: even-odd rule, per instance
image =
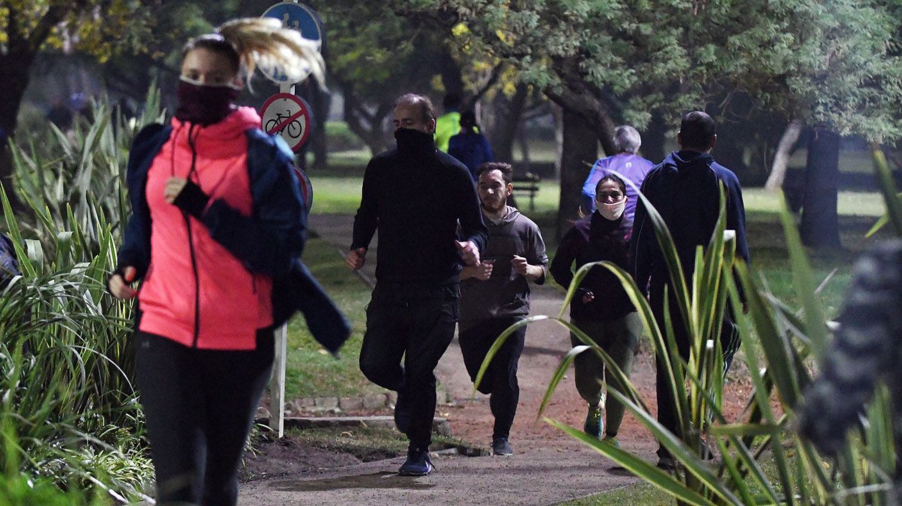
[[410, 438], [399, 474], [424, 475], [432, 471], [433, 371], [454, 338], [458, 275], [463, 265], [479, 263], [488, 235], [470, 172], [436, 149], [436, 113], [428, 97], [400, 96], [394, 123], [397, 149], [376, 155], [366, 167], [345, 263], [354, 270], [364, 266], [378, 227], [376, 286], [360, 369], [398, 392], [395, 423]]

